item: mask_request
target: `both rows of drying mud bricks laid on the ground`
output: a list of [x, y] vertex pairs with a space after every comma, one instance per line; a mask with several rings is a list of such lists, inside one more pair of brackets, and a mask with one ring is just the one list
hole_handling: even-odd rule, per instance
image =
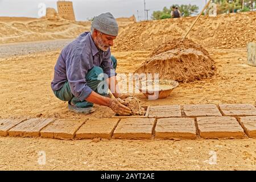
[[150, 106], [145, 118], [1, 119], [0, 136], [56, 139], [256, 138], [249, 104]]

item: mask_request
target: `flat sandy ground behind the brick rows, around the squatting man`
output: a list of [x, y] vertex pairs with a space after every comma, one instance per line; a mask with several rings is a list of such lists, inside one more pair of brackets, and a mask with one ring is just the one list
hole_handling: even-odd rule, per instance
[[[180, 84], [164, 100], [149, 101], [143, 94], [137, 94], [137, 97], [143, 105], [255, 104], [256, 67], [246, 64], [246, 49], [214, 49], [209, 52], [217, 67], [212, 78]], [[150, 52], [113, 52], [113, 55], [118, 59], [118, 73], [132, 73]], [[50, 87], [58, 56], [59, 51], [54, 51], [0, 60], [1, 117], [108, 118], [114, 114], [108, 107], [97, 105], [97, 111], [86, 116], [68, 111], [67, 102], [59, 101]]]

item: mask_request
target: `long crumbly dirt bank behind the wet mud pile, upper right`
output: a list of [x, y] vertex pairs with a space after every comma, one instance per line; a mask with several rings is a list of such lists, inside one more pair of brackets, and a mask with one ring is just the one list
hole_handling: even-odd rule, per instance
[[[196, 17], [129, 24], [119, 34], [116, 51], [151, 51], [182, 38]], [[205, 48], [239, 48], [256, 41], [256, 12], [201, 16], [188, 38]]]

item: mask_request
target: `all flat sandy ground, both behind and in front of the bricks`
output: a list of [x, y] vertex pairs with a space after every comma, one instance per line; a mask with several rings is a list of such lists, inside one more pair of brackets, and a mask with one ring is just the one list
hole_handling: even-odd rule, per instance
[[[256, 101], [256, 67], [246, 65], [246, 49], [209, 49], [217, 72], [210, 79], [180, 84], [170, 97], [143, 105], [222, 104]], [[50, 83], [60, 51], [0, 59], [0, 117], [108, 118], [108, 107], [77, 115], [53, 95]], [[118, 73], [131, 73], [150, 51], [113, 52]], [[256, 169], [255, 139], [242, 140], [53, 140], [0, 137], [0, 169], [171, 170]], [[46, 164], [39, 165], [39, 151]], [[216, 153], [214, 153], [216, 152]], [[214, 155], [216, 154], [216, 155]], [[216, 159], [216, 160], [215, 160]], [[216, 163], [217, 162], [217, 163]]]

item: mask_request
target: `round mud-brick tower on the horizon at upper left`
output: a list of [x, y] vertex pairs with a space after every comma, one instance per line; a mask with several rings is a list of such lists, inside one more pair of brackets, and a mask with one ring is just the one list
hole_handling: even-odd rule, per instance
[[76, 20], [72, 1], [57, 1], [57, 9], [61, 18]]

